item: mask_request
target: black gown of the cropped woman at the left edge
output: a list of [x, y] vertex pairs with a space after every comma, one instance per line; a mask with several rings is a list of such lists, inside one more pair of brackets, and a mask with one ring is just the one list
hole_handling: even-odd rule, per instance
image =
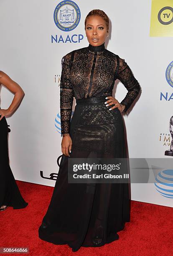
[[0, 120], [0, 207], [12, 206], [13, 209], [25, 208], [25, 202], [20, 194], [8, 158], [8, 125], [5, 117]]

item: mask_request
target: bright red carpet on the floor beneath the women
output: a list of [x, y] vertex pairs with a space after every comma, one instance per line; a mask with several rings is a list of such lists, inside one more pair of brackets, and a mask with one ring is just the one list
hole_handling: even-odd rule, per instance
[[[46, 213], [53, 187], [17, 181], [28, 206], [0, 212], [0, 247], [28, 247], [37, 256], [167, 256], [173, 255], [173, 208], [131, 202], [131, 222], [118, 232], [119, 240], [98, 248], [81, 247], [72, 252], [67, 245], [53, 245], [38, 238], [38, 227]], [[1, 254], [5, 255], [5, 254]], [[19, 255], [8, 253], [7, 255]], [[28, 255], [28, 254], [23, 254]]]

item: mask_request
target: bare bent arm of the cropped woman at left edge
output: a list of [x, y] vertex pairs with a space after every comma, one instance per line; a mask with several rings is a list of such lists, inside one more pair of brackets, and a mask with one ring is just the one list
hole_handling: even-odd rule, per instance
[[0, 71], [0, 84], [3, 84], [10, 90], [10, 92], [15, 94], [9, 108], [6, 110], [0, 109], [1, 120], [4, 116], [11, 115], [15, 111], [24, 96], [24, 92], [19, 84], [13, 81], [7, 74], [2, 71]]

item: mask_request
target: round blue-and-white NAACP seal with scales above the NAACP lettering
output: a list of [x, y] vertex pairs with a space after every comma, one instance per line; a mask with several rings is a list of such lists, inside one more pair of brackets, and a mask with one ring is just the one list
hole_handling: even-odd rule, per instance
[[59, 29], [71, 31], [78, 26], [81, 12], [79, 6], [73, 1], [62, 1], [56, 6], [53, 18]]

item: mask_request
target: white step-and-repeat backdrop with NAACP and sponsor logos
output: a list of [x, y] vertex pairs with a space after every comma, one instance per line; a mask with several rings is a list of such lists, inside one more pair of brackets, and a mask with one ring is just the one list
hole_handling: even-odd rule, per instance
[[[7, 118], [15, 179], [55, 184], [62, 156], [61, 59], [89, 45], [84, 20], [93, 9], [109, 16], [105, 46], [125, 59], [142, 88], [123, 116], [129, 158], [173, 161], [172, 0], [1, 0], [0, 9], [0, 69], [25, 92], [18, 110]], [[0, 92], [1, 108], [8, 108], [13, 94], [4, 86]], [[121, 101], [126, 93], [116, 80], [113, 96]], [[73, 111], [75, 104], [74, 99]], [[160, 167], [159, 161], [157, 166], [158, 183], [132, 183], [131, 199], [173, 207], [173, 165]]]

